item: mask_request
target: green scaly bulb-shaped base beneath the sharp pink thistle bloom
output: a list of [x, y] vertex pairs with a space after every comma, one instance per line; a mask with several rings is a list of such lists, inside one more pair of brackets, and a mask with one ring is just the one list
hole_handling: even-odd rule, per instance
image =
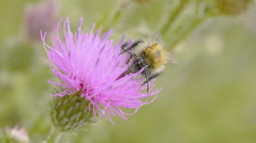
[[50, 113], [52, 123], [60, 131], [73, 132], [96, 122], [93, 111], [89, 109], [89, 103], [90, 101], [81, 97], [79, 92], [55, 97]]

